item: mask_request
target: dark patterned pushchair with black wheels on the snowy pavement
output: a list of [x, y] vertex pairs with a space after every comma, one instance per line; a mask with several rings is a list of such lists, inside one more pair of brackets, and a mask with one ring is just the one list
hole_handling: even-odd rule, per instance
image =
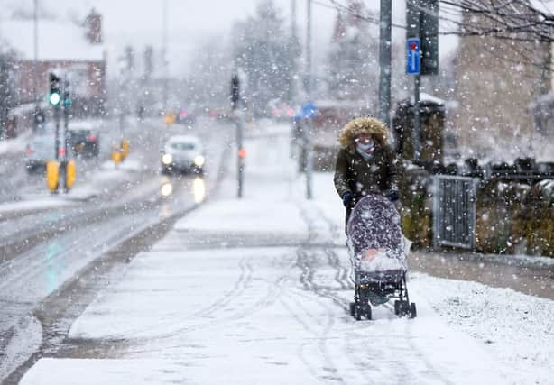
[[372, 305], [394, 301], [394, 314], [415, 318], [406, 273], [408, 264], [400, 215], [385, 197], [368, 195], [355, 205], [346, 225], [348, 251], [355, 284], [350, 315], [356, 320], [372, 319]]

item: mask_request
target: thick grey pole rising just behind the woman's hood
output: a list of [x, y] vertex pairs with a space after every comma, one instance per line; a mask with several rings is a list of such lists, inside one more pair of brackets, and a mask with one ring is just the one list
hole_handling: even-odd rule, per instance
[[391, 127], [392, 0], [381, 0], [379, 23], [379, 118]]

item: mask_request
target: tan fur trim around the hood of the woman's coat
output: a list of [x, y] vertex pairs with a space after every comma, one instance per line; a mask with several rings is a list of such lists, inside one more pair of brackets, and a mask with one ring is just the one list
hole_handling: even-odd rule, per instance
[[379, 147], [389, 144], [389, 130], [379, 119], [374, 117], [356, 117], [348, 122], [338, 132], [340, 147], [349, 151], [355, 151], [355, 137], [359, 133], [368, 133]]

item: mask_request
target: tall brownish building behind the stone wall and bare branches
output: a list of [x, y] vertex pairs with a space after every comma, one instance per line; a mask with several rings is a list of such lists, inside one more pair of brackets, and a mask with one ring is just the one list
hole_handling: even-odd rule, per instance
[[526, 144], [534, 134], [529, 105], [549, 91], [547, 62], [547, 43], [460, 38], [452, 126], [464, 155], [498, 160], [533, 156], [537, 149]]

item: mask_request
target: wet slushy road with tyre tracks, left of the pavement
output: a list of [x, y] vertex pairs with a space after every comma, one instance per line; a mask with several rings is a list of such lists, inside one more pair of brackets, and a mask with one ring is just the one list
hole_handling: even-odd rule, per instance
[[[102, 268], [101, 257], [118, 244], [197, 206], [216, 184], [226, 127], [201, 127], [207, 141], [219, 138], [210, 141], [218, 148], [211, 152], [208, 147], [208, 172], [199, 179], [159, 175], [159, 138], [171, 131], [158, 125], [135, 127], [129, 159], [117, 170], [103, 164], [79, 179], [68, 196], [51, 197], [44, 189], [28, 200], [0, 204], [0, 381], [41, 346], [43, 330], [35, 311], [44, 308], [45, 298], [56, 296], [85, 270], [94, 271], [91, 266]], [[166, 184], [172, 186], [171, 197], [162, 197]]]

